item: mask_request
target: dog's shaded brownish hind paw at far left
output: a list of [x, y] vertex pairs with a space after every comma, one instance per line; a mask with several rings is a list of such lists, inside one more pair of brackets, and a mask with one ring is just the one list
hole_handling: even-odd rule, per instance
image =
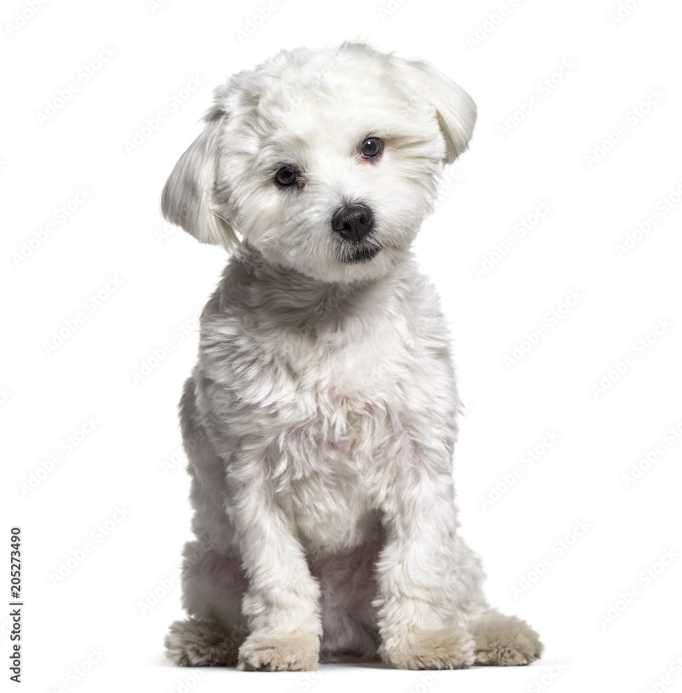
[[233, 667], [242, 638], [217, 623], [175, 621], [166, 635], [166, 654], [178, 667]]

